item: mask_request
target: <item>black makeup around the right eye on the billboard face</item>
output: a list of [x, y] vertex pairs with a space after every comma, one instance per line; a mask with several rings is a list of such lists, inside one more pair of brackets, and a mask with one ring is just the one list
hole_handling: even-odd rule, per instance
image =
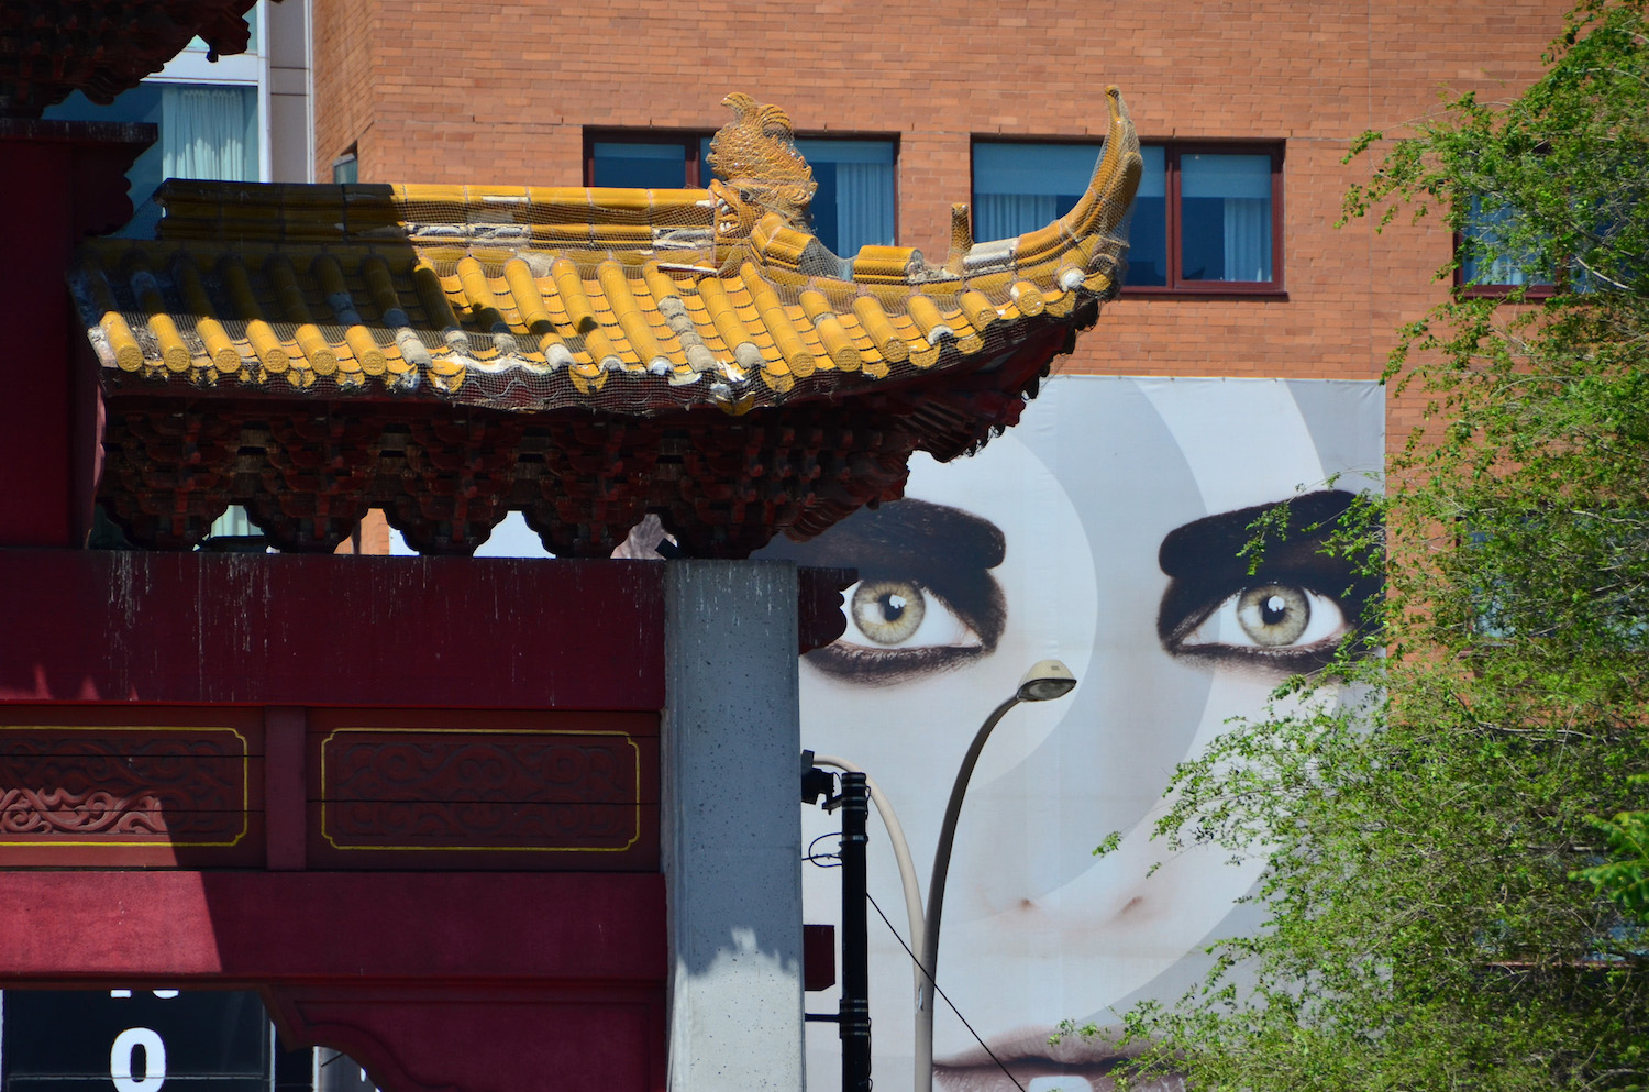
[[[1367, 610], [1380, 591], [1379, 577], [1360, 559], [1326, 553], [1355, 493], [1319, 490], [1276, 505], [1255, 505], [1204, 516], [1174, 528], [1163, 538], [1158, 564], [1167, 574], [1167, 591], [1158, 610], [1156, 632], [1163, 648], [1176, 657], [1212, 661], [1250, 661], [1286, 671], [1316, 671], [1334, 658], [1342, 642], [1306, 648], [1238, 648], [1232, 645], [1184, 643], [1222, 602], [1263, 584], [1304, 587], [1326, 595], [1346, 614], [1354, 640], [1367, 640]], [[1255, 539], [1255, 528], [1268, 520], [1258, 564], [1243, 551]]]

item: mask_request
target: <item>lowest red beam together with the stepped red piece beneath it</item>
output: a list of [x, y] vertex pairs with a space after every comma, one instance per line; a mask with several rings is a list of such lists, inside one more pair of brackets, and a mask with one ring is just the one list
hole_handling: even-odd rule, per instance
[[663, 1092], [656, 874], [0, 873], [0, 985], [257, 986], [396, 1092]]

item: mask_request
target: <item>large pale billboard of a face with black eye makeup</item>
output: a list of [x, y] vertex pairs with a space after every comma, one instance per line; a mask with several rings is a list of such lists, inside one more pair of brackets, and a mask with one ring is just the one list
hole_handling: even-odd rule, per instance
[[[1311, 549], [1250, 576], [1237, 551], [1253, 510], [1332, 513], [1379, 487], [1384, 450], [1375, 383], [1059, 376], [980, 454], [918, 457], [905, 500], [767, 551], [859, 569], [846, 635], [803, 657], [803, 746], [876, 779], [923, 892], [980, 723], [1037, 660], [1078, 678], [1008, 714], [961, 808], [938, 985], [966, 1023], [938, 1003], [938, 1089], [1008, 1092], [998, 1059], [1029, 1092], [1108, 1089], [1111, 1052], [1050, 1047], [1054, 1026], [1174, 998], [1204, 968], [1200, 944], [1255, 925], [1235, 901], [1257, 859], [1169, 854], [1151, 825], [1176, 764], [1321, 666], [1372, 594]], [[871, 896], [890, 922], [872, 911], [876, 1079], [902, 1085], [915, 990], [894, 856], [871, 826]], [[805, 812], [815, 851], [836, 828]], [[1118, 848], [1095, 858], [1111, 831]], [[805, 899], [810, 922], [834, 922], [836, 874], [806, 869]], [[810, 1010], [834, 1011], [834, 995]], [[811, 1087], [838, 1074], [834, 1026], [810, 1024]]]

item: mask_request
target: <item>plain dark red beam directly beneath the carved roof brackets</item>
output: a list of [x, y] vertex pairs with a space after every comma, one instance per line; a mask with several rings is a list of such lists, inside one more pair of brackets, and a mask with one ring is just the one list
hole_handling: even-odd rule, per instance
[[643, 561], [0, 551], [0, 701], [660, 709]]

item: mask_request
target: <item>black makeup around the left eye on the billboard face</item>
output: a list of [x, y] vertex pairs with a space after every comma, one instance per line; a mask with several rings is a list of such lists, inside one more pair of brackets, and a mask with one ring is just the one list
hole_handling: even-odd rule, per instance
[[861, 508], [806, 543], [780, 541], [757, 558], [857, 569], [862, 581], [920, 584], [978, 638], [958, 648], [816, 648], [808, 661], [831, 675], [874, 683], [958, 666], [996, 650], [1008, 625], [1008, 600], [991, 576], [1008, 554], [1001, 528], [961, 508], [904, 498]]

